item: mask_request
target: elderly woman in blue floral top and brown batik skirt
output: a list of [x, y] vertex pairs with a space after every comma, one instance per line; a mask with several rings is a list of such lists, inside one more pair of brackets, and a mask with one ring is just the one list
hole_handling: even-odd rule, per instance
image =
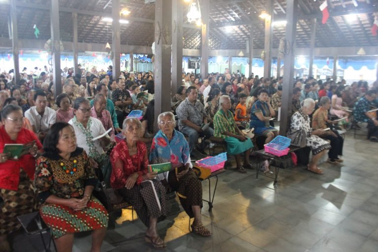
[[175, 130], [175, 116], [164, 112], [158, 116], [159, 131], [154, 137], [150, 151], [150, 162], [153, 164], [171, 162], [175, 170], [166, 172], [159, 179], [168, 182], [176, 191], [180, 203], [190, 218], [194, 218], [191, 228], [201, 236], [211, 236], [201, 221], [202, 185], [191, 169], [189, 144], [184, 135]]

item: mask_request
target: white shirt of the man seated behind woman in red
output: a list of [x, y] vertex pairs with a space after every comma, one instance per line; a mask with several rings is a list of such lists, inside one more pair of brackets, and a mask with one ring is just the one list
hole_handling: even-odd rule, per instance
[[57, 113], [54, 109], [46, 107], [43, 116], [41, 116], [35, 106], [25, 111], [25, 117], [30, 121], [30, 124], [35, 127], [38, 133], [39, 131], [47, 131], [50, 125], [55, 124], [57, 119]]

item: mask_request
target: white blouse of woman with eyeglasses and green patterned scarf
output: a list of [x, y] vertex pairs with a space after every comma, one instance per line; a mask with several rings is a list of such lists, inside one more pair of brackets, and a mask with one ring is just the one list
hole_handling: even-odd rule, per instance
[[[106, 130], [105, 130], [105, 128], [102, 125], [100, 120], [93, 118], [93, 117], [91, 117], [90, 120], [92, 120], [92, 124], [91, 124], [91, 128], [90, 128], [91, 132], [92, 132], [92, 138], [95, 138], [95, 137], [105, 133]], [[68, 124], [72, 125], [73, 129], [75, 130], [77, 146], [80, 147], [80, 148], [83, 148], [85, 150], [85, 152], [88, 154], [89, 157], [93, 157], [93, 155], [90, 152], [90, 148], [87, 144], [87, 137], [86, 137], [84, 131], [80, 127], [76, 126], [72, 122], [72, 119], [69, 120]], [[93, 143], [95, 145], [95, 150], [97, 151], [97, 153], [99, 155], [103, 154], [104, 150], [101, 147], [100, 140], [97, 139], [97, 140], [93, 141]]]

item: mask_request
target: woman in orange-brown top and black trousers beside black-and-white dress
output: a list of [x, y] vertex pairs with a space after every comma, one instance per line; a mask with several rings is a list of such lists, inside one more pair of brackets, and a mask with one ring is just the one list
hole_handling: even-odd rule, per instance
[[[328, 110], [331, 107], [331, 101], [328, 96], [323, 96], [319, 100], [319, 108], [313, 115], [313, 129], [326, 129], [327, 124], [337, 124], [335, 121], [328, 120]], [[331, 141], [331, 149], [328, 152], [328, 162], [337, 164], [343, 162], [339, 156], [343, 156], [344, 138], [337, 132], [337, 130], [325, 130], [319, 137]]]

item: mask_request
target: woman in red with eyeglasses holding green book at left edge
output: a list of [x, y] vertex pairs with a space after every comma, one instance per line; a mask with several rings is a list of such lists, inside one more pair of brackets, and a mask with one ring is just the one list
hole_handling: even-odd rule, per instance
[[[23, 128], [21, 107], [13, 104], [1, 111], [0, 127], [0, 198], [4, 201], [0, 209], [0, 251], [11, 251], [7, 234], [21, 228], [17, 216], [32, 213], [36, 207], [32, 181], [35, 158], [42, 145], [35, 134]], [[34, 143], [32, 143], [34, 141]], [[27, 144], [32, 147], [21, 157], [11, 157], [5, 151], [6, 144]]]

